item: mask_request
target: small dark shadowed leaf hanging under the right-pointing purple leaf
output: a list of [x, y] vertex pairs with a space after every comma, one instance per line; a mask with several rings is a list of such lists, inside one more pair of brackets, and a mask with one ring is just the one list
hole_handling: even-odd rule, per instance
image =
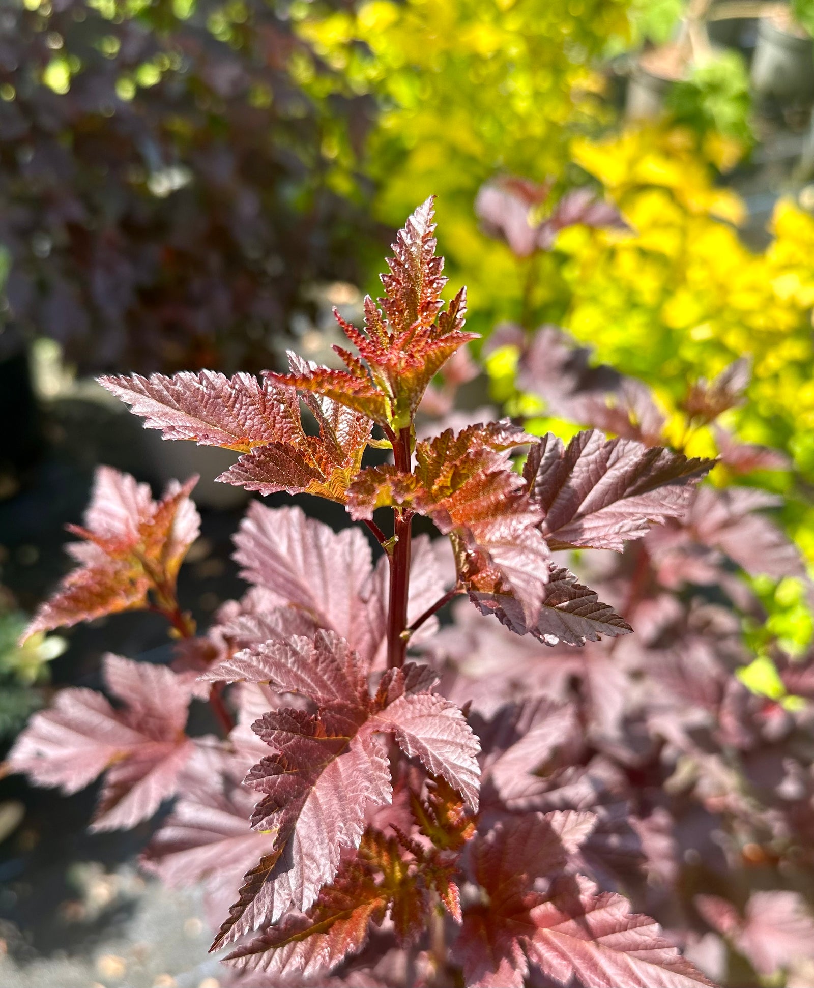
[[469, 591], [469, 600], [484, 615], [494, 615], [515, 634], [532, 634], [544, 645], [584, 645], [603, 635], [614, 638], [633, 629], [599, 595], [577, 583], [567, 569], [551, 568], [536, 622], [528, 624], [518, 600], [506, 594]]

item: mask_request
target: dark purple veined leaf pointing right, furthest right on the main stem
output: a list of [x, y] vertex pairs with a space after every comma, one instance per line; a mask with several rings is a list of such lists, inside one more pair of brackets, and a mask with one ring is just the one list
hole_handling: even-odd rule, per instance
[[712, 465], [632, 440], [606, 440], [593, 430], [567, 449], [549, 433], [531, 448], [524, 476], [552, 549], [621, 549], [651, 525], [683, 515], [693, 485]]

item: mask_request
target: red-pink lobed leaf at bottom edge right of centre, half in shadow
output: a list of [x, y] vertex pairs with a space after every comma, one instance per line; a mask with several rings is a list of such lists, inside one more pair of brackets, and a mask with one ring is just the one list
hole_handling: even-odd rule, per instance
[[[529, 965], [592, 988], [711, 985], [626, 899], [563, 873], [595, 823], [590, 813], [526, 814], [475, 844], [472, 875], [489, 906], [464, 911], [454, 952], [467, 985], [522, 988]], [[553, 879], [547, 892], [537, 878]]]

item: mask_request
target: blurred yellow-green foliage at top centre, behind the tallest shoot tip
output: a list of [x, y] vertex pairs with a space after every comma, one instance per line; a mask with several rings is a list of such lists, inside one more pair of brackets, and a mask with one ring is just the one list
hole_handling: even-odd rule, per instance
[[[593, 68], [628, 31], [628, 0], [367, 0], [297, 8], [297, 30], [379, 112], [366, 173], [374, 209], [396, 227], [436, 193], [448, 273], [465, 280], [474, 328], [517, 313], [527, 274], [478, 230], [473, 203], [496, 172], [561, 178], [577, 133], [608, 119]], [[541, 272], [540, 300], [562, 288]], [[548, 278], [547, 276], [551, 276]]]

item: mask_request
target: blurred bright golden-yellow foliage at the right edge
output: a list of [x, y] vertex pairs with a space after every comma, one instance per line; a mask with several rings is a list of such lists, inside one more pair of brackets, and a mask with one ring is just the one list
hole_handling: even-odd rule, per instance
[[632, 233], [560, 238], [572, 292], [566, 328], [673, 400], [688, 381], [750, 355], [753, 381], [736, 427], [787, 450], [814, 477], [812, 444], [803, 441], [814, 427], [814, 217], [780, 202], [773, 242], [754, 253], [732, 225], [742, 203], [713, 186], [689, 134], [645, 127], [574, 152]]

